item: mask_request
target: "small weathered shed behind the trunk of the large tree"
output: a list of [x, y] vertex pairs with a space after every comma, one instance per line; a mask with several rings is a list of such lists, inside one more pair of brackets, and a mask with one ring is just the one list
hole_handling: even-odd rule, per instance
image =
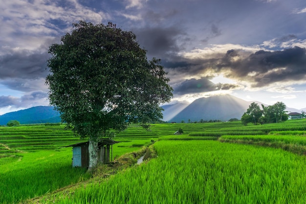
[[[112, 161], [112, 145], [118, 141], [105, 138], [98, 141], [98, 161], [107, 163]], [[89, 166], [89, 141], [71, 144], [66, 147], [72, 147], [72, 167]]]

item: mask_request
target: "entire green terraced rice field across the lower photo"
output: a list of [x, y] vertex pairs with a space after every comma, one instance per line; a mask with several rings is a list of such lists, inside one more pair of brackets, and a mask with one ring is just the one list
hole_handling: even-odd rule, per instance
[[64, 125], [0, 127], [0, 203], [304, 204], [305, 133], [305, 119], [131, 125], [113, 158], [152, 141], [157, 157], [105, 179], [71, 167], [65, 146], [85, 140]]

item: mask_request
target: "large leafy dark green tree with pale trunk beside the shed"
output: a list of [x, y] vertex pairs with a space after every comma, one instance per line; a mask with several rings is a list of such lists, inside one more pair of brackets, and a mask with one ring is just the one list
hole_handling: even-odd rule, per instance
[[89, 138], [89, 168], [97, 164], [97, 142], [110, 130], [123, 131], [129, 123], [162, 118], [161, 103], [173, 89], [160, 60], [148, 60], [136, 36], [115, 24], [73, 23], [61, 44], [49, 47], [50, 105], [62, 121]]

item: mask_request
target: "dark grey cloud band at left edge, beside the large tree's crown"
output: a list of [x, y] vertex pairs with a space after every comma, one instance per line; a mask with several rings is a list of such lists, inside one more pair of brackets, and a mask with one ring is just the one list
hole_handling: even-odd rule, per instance
[[46, 77], [46, 60], [49, 55], [18, 51], [0, 56], [0, 79], [37, 79]]

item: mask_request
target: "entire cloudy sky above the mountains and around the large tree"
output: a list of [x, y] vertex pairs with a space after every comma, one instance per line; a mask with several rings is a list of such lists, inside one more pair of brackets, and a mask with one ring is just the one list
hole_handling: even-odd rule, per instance
[[72, 23], [115, 23], [159, 58], [171, 103], [231, 94], [306, 108], [305, 0], [2, 0], [0, 115], [47, 106], [48, 48]]

